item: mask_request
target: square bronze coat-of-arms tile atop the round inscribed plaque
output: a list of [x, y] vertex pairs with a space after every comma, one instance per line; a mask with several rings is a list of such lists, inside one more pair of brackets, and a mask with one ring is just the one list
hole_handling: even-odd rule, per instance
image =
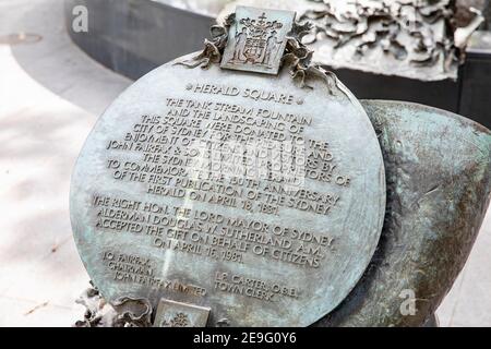
[[295, 15], [291, 11], [238, 7], [221, 68], [276, 75]]

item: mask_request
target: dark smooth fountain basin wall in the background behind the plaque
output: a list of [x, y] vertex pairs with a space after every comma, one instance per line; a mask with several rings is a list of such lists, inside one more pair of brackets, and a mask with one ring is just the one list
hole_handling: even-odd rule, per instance
[[[175, 57], [199, 50], [203, 33], [208, 32], [216, 16], [213, 14], [216, 8], [211, 11], [185, 9], [182, 5], [185, 1], [64, 2], [67, 28], [73, 41], [98, 62], [133, 80]], [[76, 5], [88, 9], [88, 33], [72, 29], [72, 11]], [[489, 4], [481, 10], [489, 15]], [[460, 113], [490, 128], [491, 32], [486, 29], [489, 22], [487, 19], [471, 35], [456, 79], [420, 81], [346, 68], [335, 69], [335, 72], [359, 98], [426, 104]]]

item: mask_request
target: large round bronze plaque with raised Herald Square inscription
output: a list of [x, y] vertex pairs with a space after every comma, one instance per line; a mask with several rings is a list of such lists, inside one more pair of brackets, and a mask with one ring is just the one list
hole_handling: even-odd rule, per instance
[[378, 244], [384, 168], [357, 99], [312, 87], [168, 63], [108, 108], [71, 188], [107, 300], [209, 309], [208, 326], [308, 326], [339, 304]]

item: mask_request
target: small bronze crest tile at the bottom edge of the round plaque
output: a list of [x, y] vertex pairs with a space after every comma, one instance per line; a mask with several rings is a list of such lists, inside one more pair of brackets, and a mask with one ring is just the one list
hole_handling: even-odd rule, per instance
[[154, 327], [205, 327], [209, 308], [161, 299]]

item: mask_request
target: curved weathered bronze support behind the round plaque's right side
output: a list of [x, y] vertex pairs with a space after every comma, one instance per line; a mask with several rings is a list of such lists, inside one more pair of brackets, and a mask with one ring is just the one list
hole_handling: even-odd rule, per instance
[[[375, 254], [316, 326], [421, 326], [463, 268], [491, 190], [491, 132], [421, 105], [366, 100], [384, 156], [387, 207]], [[404, 301], [414, 293], [414, 314]], [[406, 309], [407, 310], [407, 309]]]

